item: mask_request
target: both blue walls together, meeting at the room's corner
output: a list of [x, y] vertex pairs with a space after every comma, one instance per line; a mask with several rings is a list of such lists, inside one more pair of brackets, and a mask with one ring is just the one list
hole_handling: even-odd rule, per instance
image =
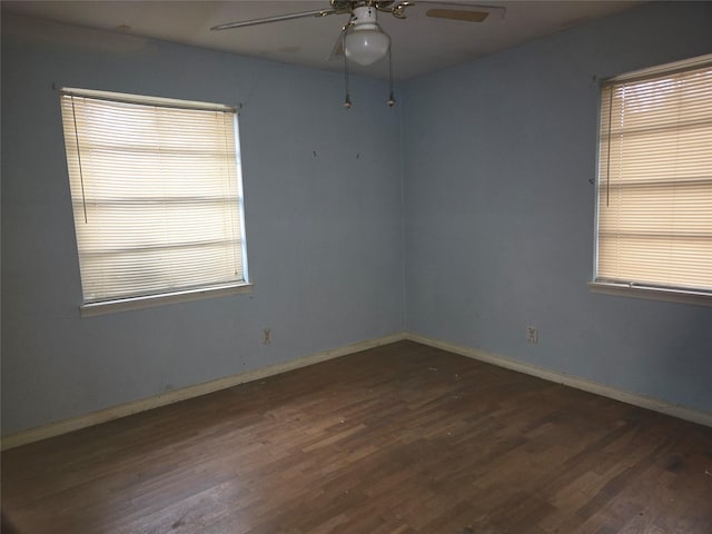
[[[355, 79], [345, 112], [337, 75], [3, 16], [3, 433], [400, 332], [404, 259], [409, 332], [712, 409], [712, 308], [586, 288], [597, 79], [710, 52], [710, 2], [647, 4], [392, 110]], [[245, 102], [251, 295], [79, 318], [53, 82]]]

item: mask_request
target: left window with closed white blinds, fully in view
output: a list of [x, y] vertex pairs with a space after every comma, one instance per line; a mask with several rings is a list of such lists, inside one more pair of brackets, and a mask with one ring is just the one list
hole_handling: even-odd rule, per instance
[[63, 89], [82, 314], [247, 285], [237, 115]]

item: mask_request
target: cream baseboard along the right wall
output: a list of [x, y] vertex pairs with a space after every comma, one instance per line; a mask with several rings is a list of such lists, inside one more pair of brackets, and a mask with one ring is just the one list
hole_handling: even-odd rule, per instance
[[545, 380], [555, 382], [556, 384], [563, 384], [576, 389], [601, 395], [603, 397], [613, 398], [623, 403], [639, 406], [641, 408], [652, 409], [653, 412], [660, 412], [661, 414], [671, 415], [680, 419], [690, 421], [700, 425], [712, 427], [712, 413], [702, 412], [699, 409], [688, 408], [685, 406], [679, 406], [675, 404], [661, 400], [660, 398], [649, 397], [632, 392], [626, 392], [615, 387], [606, 386], [597, 382], [586, 380], [576, 376], [567, 375], [555, 370], [543, 369], [528, 364], [523, 364], [513, 359], [508, 359], [498, 355], [485, 353], [476, 348], [464, 347], [461, 345], [454, 345], [452, 343], [442, 342], [439, 339], [432, 339], [429, 337], [421, 336], [418, 334], [405, 334], [405, 339], [428, 345], [431, 347], [441, 348], [449, 353], [459, 354], [461, 356], [467, 356], [468, 358], [478, 359], [488, 364], [497, 365], [507, 369], [524, 373], [526, 375], [536, 376]]

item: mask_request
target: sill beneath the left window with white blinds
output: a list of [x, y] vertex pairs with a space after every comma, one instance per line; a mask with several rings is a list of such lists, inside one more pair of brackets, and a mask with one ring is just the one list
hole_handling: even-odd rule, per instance
[[93, 317], [96, 315], [115, 314], [118, 312], [129, 312], [132, 309], [154, 308], [169, 304], [189, 303], [202, 298], [225, 297], [228, 295], [239, 295], [250, 293], [251, 284], [228, 285], [192, 289], [188, 291], [164, 293], [161, 295], [148, 295], [145, 297], [121, 298], [118, 300], [107, 300], [105, 303], [88, 303], [79, 306], [82, 317]]

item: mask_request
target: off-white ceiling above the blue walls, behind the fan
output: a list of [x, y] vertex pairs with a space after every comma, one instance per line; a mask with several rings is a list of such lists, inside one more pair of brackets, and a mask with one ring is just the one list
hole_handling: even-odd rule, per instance
[[[378, 14], [382, 29], [392, 38], [396, 80], [471, 61], [641, 3], [483, 1], [484, 6], [505, 9], [491, 13], [484, 22], [465, 22], [425, 17], [426, 6], [414, 1], [416, 4], [408, 8], [406, 20], [389, 13]], [[347, 14], [210, 31], [219, 23], [328, 7], [328, 0], [2, 1], [3, 11], [28, 17], [340, 71], [343, 59], [334, 57], [333, 51], [342, 27], [348, 21]], [[387, 77], [385, 60], [367, 68], [349, 66], [349, 69], [374, 78]]]

